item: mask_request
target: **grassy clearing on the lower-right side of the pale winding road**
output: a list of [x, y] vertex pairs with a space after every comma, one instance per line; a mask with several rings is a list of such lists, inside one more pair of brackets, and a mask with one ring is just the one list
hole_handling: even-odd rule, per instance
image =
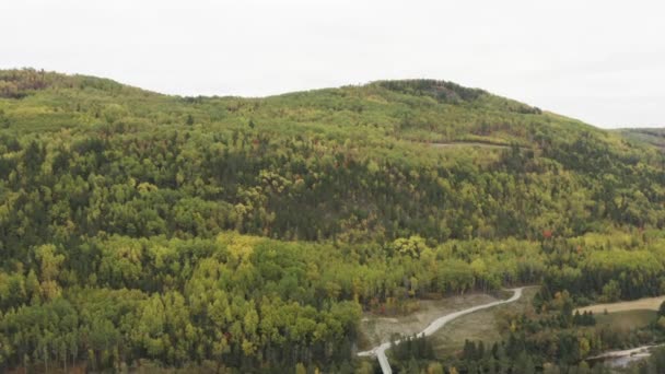
[[532, 301], [538, 288], [524, 289], [523, 295], [514, 303], [499, 305], [485, 311], [471, 313], [445, 325], [430, 339], [438, 357], [446, 357], [459, 350], [464, 341], [482, 340], [492, 343], [501, 340], [501, 330], [508, 326], [500, 326], [505, 314], [522, 313], [532, 308]]

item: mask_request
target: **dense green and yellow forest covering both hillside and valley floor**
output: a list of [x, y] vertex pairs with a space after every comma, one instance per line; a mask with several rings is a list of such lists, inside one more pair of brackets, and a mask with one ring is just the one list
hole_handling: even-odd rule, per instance
[[[373, 372], [363, 311], [514, 284], [538, 316], [462, 365], [576, 365], [616, 344], [572, 305], [665, 293], [664, 162], [444, 81], [180, 97], [0, 71], [0, 371]], [[552, 326], [584, 350], [533, 359]]]

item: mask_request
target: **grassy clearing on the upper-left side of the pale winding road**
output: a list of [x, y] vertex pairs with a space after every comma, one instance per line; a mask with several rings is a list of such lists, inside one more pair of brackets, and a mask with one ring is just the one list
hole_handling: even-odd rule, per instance
[[359, 348], [371, 349], [382, 342], [390, 340], [394, 334], [410, 336], [422, 331], [434, 319], [453, 312], [468, 307], [491, 303], [498, 299], [483, 294], [470, 293], [466, 295], [445, 297], [441, 300], [420, 301], [420, 309], [406, 316], [381, 316], [365, 313], [360, 324], [361, 337]]

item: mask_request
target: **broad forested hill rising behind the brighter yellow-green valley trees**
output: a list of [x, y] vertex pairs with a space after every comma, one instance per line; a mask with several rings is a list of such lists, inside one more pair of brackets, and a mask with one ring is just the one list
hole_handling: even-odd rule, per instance
[[30, 70], [0, 82], [12, 253], [100, 232], [444, 241], [663, 223], [657, 152], [453, 83], [240, 98]]

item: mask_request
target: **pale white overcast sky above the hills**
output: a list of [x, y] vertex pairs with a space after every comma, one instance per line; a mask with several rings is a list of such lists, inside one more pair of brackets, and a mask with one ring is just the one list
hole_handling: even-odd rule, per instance
[[664, 14], [644, 0], [0, 0], [0, 69], [180, 95], [430, 78], [665, 127]]

